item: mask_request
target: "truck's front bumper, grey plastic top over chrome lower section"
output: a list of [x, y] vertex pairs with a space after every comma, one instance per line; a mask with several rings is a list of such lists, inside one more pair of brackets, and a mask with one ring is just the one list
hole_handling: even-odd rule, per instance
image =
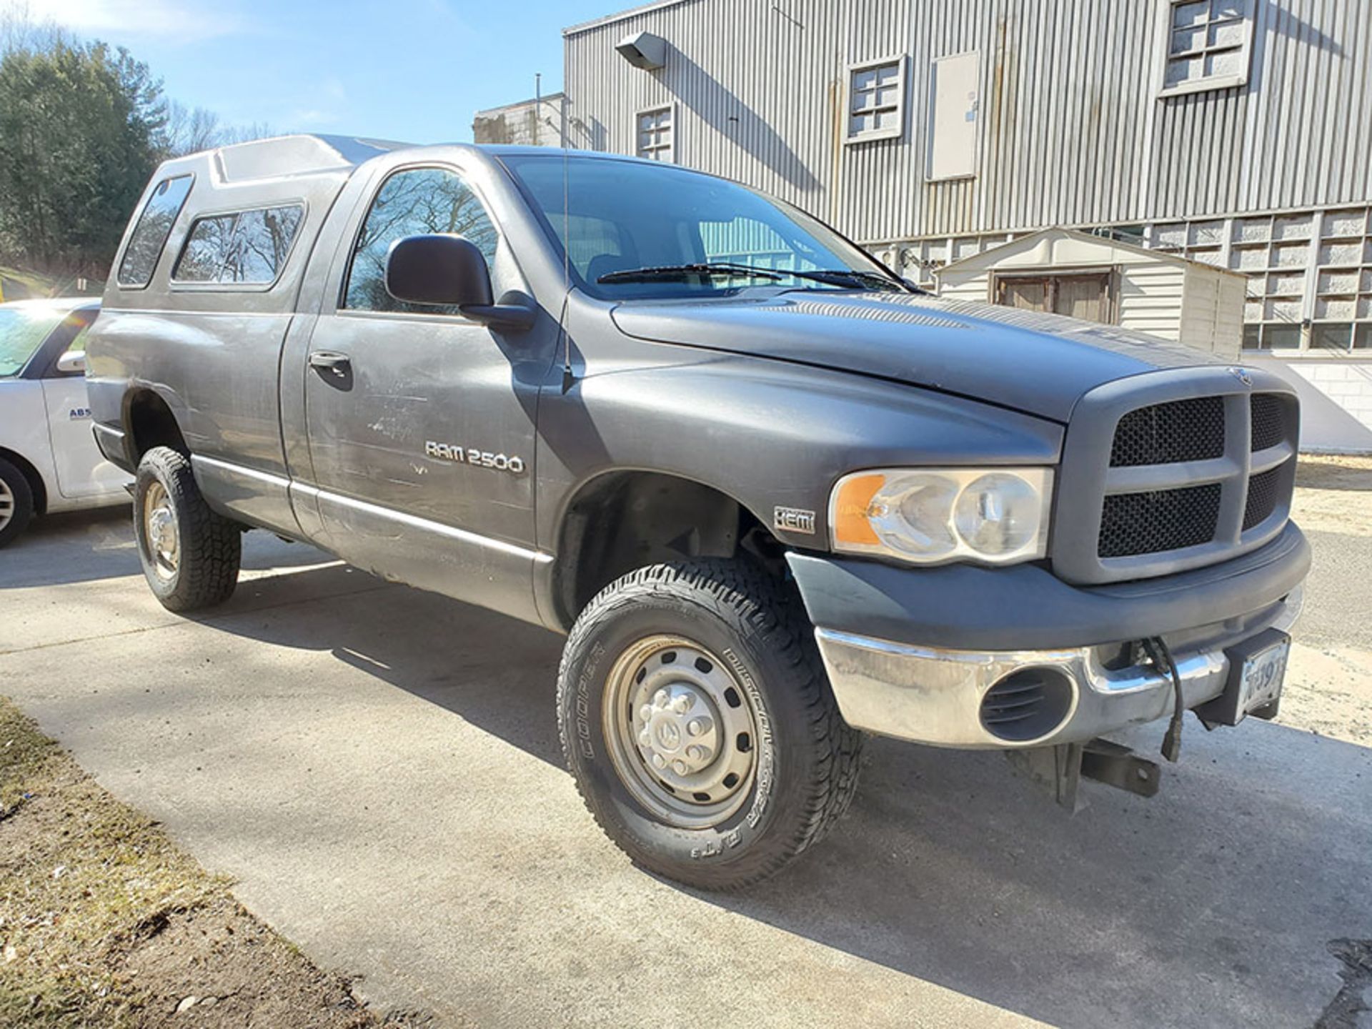
[[[1227, 648], [1295, 623], [1309, 546], [1290, 525], [1262, 550], [1227, 565], [1109, 589], [1076, 589], [1028, 565], [930, 569], [945, 572], [938, 589], [927, 571], [888, 565], [873, 576], [877, 565], [799, 554], [790, 564], [851, 726], [936, 746], [1014, 749], [1084, 742], [1168, 715], [1172, 679], [1129, 659], [1131, 643], [1148, 637], [1162, 637], [1172, 649], [1188, 709], [1217, 697], [1229, 675]], [[845, 579], [866, 582], [848, 590], [847, 604], [822, 589]], [[900, 589], [892, 591], [897, 582]], [[1036, 583], [1044, 589], [1033, 589]], [[978, 598], [977, 584], [991, 591]], [[991, 612], [1007, 611], [1007, 600], [1015, 616], [996, 620]], [[921, 611], [929, 619], [922, 620]], [[904, 617], [897, 620], [897, 612]], [[1188, 613], [1190, 622], [1181, 617]], [[886, 631], [855, 631], [864, 622]], [[1041, 733], [1010, 740], [986, 729], [982, 701], [1017, 672], [1044, 674], [1070, 696], [1061, 718]]]

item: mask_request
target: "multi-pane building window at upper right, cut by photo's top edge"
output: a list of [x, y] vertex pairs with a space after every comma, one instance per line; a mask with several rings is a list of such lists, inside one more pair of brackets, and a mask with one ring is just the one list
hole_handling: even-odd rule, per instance
[[1169, 0], [1162, 96], [1249, 81], [1254, 0]]

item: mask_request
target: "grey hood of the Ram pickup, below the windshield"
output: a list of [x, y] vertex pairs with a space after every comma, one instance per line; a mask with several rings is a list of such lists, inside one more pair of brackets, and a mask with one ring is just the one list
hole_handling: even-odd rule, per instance
[[639, 339], [879, 376], [1062, 423], [1102, 383], [1216, 364], [1113, 325], [910, 294], [631, 300], [612, 317]]

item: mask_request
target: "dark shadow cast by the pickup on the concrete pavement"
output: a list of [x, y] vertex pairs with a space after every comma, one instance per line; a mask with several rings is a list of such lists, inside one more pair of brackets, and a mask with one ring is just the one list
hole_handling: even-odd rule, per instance
[[[543, 630], [402, 587], [206, 624], [332, 652], [561, 766]], [[1310, 1025], [1310, 997], [1339, 989], [1328, 941], [1372, 934], [1372, 750], [1188, 720], [1162, 796], [1093, 789], [1076, 816], [995, 753], [873, 740], [864, 764], [852, 812], [792, 871], [698, 899], [1067, 1026]]]

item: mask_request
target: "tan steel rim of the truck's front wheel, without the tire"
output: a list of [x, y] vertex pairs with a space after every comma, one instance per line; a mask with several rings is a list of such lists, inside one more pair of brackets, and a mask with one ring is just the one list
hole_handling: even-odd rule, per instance
[[653, 635], [626, 648], [605, 683], [611, 760], [634, 799], [668, 825], [734, 815], [756, 775], [756, 700], [707, 648]]

